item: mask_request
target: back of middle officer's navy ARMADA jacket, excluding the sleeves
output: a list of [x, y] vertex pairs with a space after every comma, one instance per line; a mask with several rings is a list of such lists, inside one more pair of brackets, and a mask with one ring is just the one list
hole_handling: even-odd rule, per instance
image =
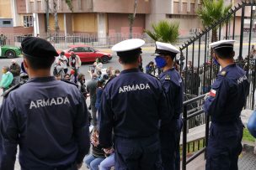
[[115, 136], [149, 137], [158, 131], [159, 80], [140, 70], [124, 70], [105, 87], [115, 115]]

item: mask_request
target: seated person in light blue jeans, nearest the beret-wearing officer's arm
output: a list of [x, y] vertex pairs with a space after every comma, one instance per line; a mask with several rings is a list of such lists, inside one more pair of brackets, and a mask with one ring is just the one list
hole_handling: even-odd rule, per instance
[[83, 162], [91, 170], [99, 170], [99, 164], [100, 162], [104, 161], [105, 153], [102, 147], [99, 145], [99, 131], [97, 129], [93, 129], [91, 143], [93, 146], [92, 154], [85, 157]]

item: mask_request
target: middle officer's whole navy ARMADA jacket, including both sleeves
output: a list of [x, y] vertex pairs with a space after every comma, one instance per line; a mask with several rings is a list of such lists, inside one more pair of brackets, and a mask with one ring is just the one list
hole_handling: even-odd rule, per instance
[[159, 120], [169, 118], [169, 106], [157, 78], [139, 70], [124, 70], [105, 85], [99, 108], [99, 143], [111, 147], [115, 137], [156, 135]]

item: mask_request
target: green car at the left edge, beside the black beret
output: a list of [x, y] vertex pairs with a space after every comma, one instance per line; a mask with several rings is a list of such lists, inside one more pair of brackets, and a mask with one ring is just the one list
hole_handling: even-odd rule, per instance
[[12, 59], [21, 55], [21, 49], [19, 47], [11, 45], [3, 45], [0, 47], [0, 57], [6, 57]]

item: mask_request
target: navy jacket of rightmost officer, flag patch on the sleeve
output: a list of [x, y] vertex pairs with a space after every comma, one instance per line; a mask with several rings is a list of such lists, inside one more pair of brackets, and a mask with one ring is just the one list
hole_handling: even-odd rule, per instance
[[244, 70], [237, 64], [223, 68], [211, 85], [204, 110], [215, 123], [237, 121], [248, 96], [249, 83]]

